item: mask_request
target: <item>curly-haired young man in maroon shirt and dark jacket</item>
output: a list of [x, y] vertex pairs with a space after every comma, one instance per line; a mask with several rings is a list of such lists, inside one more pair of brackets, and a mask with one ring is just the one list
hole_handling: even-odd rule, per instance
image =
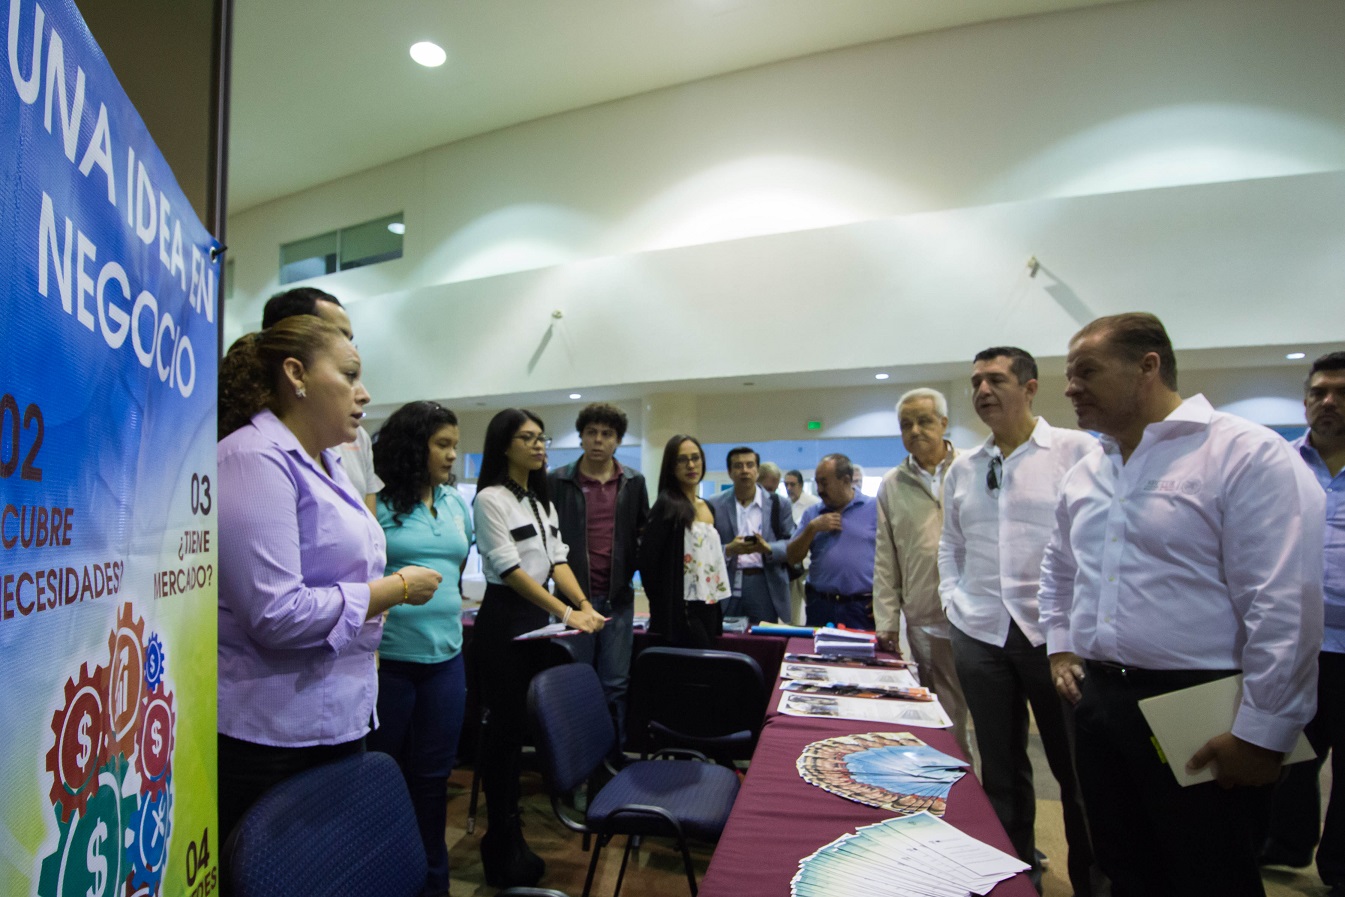
[[635, 576], [640, 533], [650, 512], [644, 476], [616, 460], [625, 437], [625, 412], [593, 402], [580, 412], [574, 429], [584, 455], [550, 472], [551, 500], [561, 519], [561, 538], [570, 549], [570, 569], [609, 621], [596, 635], [594, 666], [603, 693], [625, 734], [625, 690], [631, 679]]

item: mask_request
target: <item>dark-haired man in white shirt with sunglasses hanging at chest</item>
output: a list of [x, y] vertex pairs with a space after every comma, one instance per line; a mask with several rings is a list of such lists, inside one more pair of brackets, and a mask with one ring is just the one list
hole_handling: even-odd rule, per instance
[[1018, 858], [1032, 865], [1037, 795], [1028, 758], [1028, 706], [1060, 783], [1069, 882], [1092, 894], [1092, 849], [1075, 780], [1065, 711], [1050, 680], [1037, 621], [1041, 555], [1054, 526], [1060, 481], [1098, 441], [1032, 412], [1037, 362], [1011, 346], [978, 352], [972, 403], [990, 436], [962, 453], [944, 483], [939, 597], [952, 624], [954, 664], [976, 732], [982, 781]]

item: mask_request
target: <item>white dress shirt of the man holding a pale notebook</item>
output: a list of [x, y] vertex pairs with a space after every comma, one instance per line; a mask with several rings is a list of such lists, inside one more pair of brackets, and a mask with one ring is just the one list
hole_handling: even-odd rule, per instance
[[1069, 476], [1042, 561], [1046, 648], [1146, 670], [1241, 670], [1233, 734], [1289, 750], [1317, 706], [1321, 487], [1272, 430], [1204, 395], [1103, 437]]

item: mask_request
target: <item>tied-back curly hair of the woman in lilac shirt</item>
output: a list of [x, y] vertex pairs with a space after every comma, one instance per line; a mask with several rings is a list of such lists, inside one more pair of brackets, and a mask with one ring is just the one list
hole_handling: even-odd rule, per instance
[[286, 317], [256, 334], [234, 340], [219, 363], [218, 438], [245, 426], [253, 414], [269, 407], [278, 412], [276, 387], [286, 358], [312, 366], [313, 359], [346, 335], [321, 317]]

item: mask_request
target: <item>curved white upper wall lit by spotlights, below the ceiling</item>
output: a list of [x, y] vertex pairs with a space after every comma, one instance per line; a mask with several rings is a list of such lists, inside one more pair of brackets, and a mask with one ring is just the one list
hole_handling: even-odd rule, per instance
[[312, 281], [381, 406], [913, 378], [991, 343], [1059, 356], [1131, 308], [1186, 350], [1340, 340], [1341, 34], [1332, 0], [1149, 0], [529, 122], [235, 215], [226, 334], [281, 242], [404, 210], [402, 260]]

